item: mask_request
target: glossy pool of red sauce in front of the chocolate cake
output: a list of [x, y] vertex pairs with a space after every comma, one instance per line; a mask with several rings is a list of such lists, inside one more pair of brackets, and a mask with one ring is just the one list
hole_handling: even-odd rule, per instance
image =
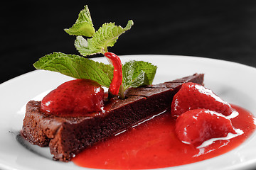
[[239, 115], [231, 119], [233, 126], [244, 133], [230, 140], [218, 140], [197, 149], [176, 137], [175, 120], [170, 113], [98, 142], [73, 158], [78, 166], [95, 169], [155, 169], [200, 162], [238, 147], [255, 130], [252, 114], [233, 106]]

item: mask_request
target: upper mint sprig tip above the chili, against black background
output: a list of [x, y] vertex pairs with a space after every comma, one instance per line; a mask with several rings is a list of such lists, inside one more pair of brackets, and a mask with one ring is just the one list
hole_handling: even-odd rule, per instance
[[[80, 55], [87, 57], [88, 55], [107, 52], [107, 47], [112, 47], [119, 36], [131, 29], [133, 25], [132, 20], [129, 20], [124, 28], [116, 26], [114, 23], [104, 23], [95, 32], [89, 8], [85, 6], [85, 9], [80, 11], [75, 24], [71, 28], [64, 30], [69, 35], [77, 35], [75, 48], [80, 52]], [[86, 40], [82, 36], [92, 38]]]

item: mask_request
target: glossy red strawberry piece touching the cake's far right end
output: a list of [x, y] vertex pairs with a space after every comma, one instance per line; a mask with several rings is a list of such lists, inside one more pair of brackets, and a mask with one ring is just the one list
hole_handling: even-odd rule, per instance
[[204, 86], [195, 83], [183, 84], [171, 103], [171, 114], [178, 116], [196, 108], [207, 108], [223, 115], [230, 115], [233, 111], [229, 103]]

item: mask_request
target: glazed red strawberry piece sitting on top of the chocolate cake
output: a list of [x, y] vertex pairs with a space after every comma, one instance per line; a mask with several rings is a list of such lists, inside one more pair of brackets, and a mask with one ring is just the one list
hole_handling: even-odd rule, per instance
[[89, 79], [75, 79], [50, 91], [42, 102], [43, 111], [53, 114], [92, 113], [103, 106], [104, 89]]

